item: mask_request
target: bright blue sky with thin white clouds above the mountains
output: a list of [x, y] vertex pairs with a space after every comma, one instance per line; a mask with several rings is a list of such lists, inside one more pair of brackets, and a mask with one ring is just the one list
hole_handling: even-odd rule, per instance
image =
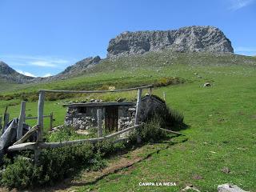
[[106, 58], [123, 31], [217, 26], [236, 54], [256, 55], [256, 0], [0, 0], [0, 60], [49, 76]]

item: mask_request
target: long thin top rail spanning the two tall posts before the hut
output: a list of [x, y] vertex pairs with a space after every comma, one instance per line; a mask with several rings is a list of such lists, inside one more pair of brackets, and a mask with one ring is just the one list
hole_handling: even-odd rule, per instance
[[134, 88], [128, 88], [123, 90], [39, 90], [39, 92], [47, 92], [47, 93], [66, 93], [66, 94], [94, 94], [94, 93], [112, 93], [112, 92], [122, 92], [127, 90], [138, 90], [138, 89], [146, 89], [151, 88], [153, 85], [149, 86], [139, 86]]

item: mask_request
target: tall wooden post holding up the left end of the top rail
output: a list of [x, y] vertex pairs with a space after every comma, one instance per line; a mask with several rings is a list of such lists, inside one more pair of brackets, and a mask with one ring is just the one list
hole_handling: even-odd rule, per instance
[[38, 139], [37, 139], [37, 142], [42, 142], [44, 100], [45, 100], [45, 92], [40, 91], [39, 98], [38, 98]]

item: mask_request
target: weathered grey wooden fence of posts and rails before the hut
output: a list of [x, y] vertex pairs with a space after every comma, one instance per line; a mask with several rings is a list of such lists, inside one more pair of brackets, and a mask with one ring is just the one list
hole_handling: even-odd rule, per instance
[[[38, 159], [38, 155], [40, 154], [40, 151], [42, 149], [47, 149], [47, 148], [57, 148], [57, 147], [62, 147], [62, 146], [71, 146], [74, 144], [78, 143], [84, 143], [84, 142], [90, 142], [90, 143], [95, 143], [95, 142], [101, 142], [106, 139], [110, 138], [115, 138], [116, 136], [123, 134], [129, 130], [134, 130], [138, 128], [139, 126], [142, 126], [142, 124], [139, 124], [139, 114], [140, 114], [140, 107], [141, 107], [141, 98], [142, 98], [142, 90], [143, 89], [149, 89], [149, 94], [152, 94], [152, 87], [153, 86], [140, 86], [140, 87], [135, 87], [135, 88], [130, 88], [130, 89], [124, 89], [124, 90], [39, 90], [39, 97], [38, 97], [38, 123], [36, 126], [34, 126], [32, 129], [30, 129], [25, 135], [22, 136], [22, 128], [21, 125], [18, 125], [18, 131], [17, 131], [17, 140], [18, 142], [15, 142], [13, 146], [10, 146], [8, 148], [9, 151], [14, 151], [14, 150], [34, 150], [35, 154], [35, 160]], [[125, 130], [120, 130], [114, 134], [107, 135], [105, 137], [102, 137], [102, 121], [101, 117], [102, 115], [102, 109], [99, 108], [97, 110], [98, 114], [98, 138], [89, 138], [89, 139], [80, 139], [80, 140], [74, 140], [74, 141], [66, 141], [66, 142], [42, 142], [43, 138], [43, 118], [46, 118], [46, 116], [43, 115], [44, 112], [44, 101], [45, 101], [45, 94], [46, 93], [65, 93], [65, 94], [92, 94], [92, 93], [109, 93], [109, 92], [121, 92], [121, 91], [130, 91], [130, 90], [138, 90], [138, 96], [137, 96], [137, 103], [136, 103], [136, 114], [135, 114], [135, 121], [134, 121], [134, 126], [131, 126], [129, 128], [126, 128]], [[22, 102], [21, 106], [21, 112], [20, 112], [20, 117], [19, 119], [23, 119], [24, 121], [26, 119], [31, 119], [31, 118], [26, 118], [25, 116], [25, 102]], [[34, 119], [34, 118], [33, 118]], [[31, 134], [34, 134], [37, 132], [37, 141], [36, 142], [26, 142], [23, 143], [27, 140], [27, 138], [30, 137]], [[126, 140], [127, 138], [121, 138], [117, 139], [114, 142], [119, 142], [122, 140]], [[140, 138], [138, 138], [139, 142]]]

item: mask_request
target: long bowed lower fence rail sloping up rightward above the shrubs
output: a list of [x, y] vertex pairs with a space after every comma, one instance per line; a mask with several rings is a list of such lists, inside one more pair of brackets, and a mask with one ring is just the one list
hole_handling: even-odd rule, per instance
[[[109, 135], [106, 135], [105, 137], [101, 137], [101, 138], [87, 138], [87, 139], [78, 139], [78, 140], [74, 140], [74, 141], [65, 141], [65, 142], [26, 142], [26, 143], [21, 143], [21, 144], [17, 144], [14, 146], [10, 146], [8, 148], [8, 151], [38, 150], [38, 148], [53, 149], [53, 148], [58, 148], [58, 147], [62, 147], [62, 146], [72, 146], [75, 144], [82, 144], [85, 142], [90, 142], [90, 143], [102, 142], [102, 141], [105, 141], [106, 139], [114, 138], [120, 134], [126, 133], [129, 130], [134, 130], [140, 126], [142, 126], [142, 124], [137, 125], [137, 126], [131, 126], [129, 128], [126, 128], [125, 130], [120, 130], [114, 134], [109, 134]], [[120, 142], [120, 141], [125, 141], [125, 140], [127, 140], [127, 138], [118, 138], [118, 140], [116, 140], [114, 142]]]

